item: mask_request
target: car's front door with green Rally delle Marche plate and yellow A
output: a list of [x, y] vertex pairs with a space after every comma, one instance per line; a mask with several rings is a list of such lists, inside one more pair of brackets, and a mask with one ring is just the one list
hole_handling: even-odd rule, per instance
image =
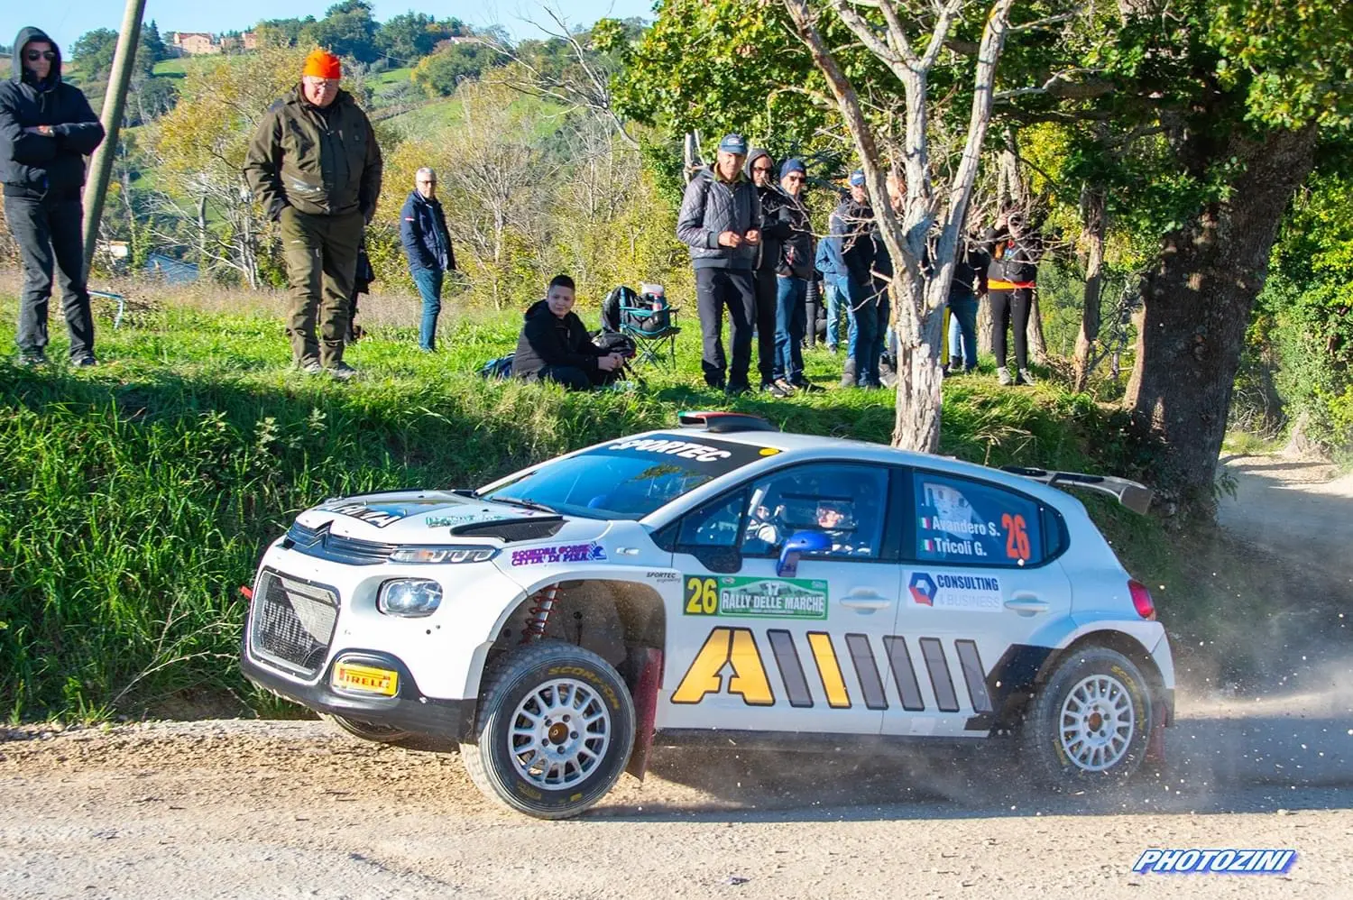
[[[802, 463], [691, 513], [675, 544], [683, 601], [667, 621], [659, 727], [878, 734], [873, 647], [896, 618], [889, 470]], [[796, 533], [825, 548], [781, 566]]]

